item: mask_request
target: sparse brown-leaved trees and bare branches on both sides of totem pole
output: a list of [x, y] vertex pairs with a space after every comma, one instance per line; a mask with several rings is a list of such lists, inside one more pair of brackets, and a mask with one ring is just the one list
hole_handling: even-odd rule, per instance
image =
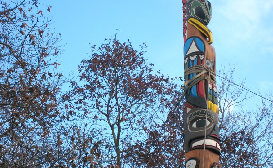
[[[38, 0], [1, 1], [0, 166], [184, 167], [177, 77], [154, 70], [145, 43], [136, 50], [114, 35], [91, 45], [78, 78], [65, 78], [61, 34], [47, 15], [53, 9]], [[253, 95], [244, 81], [234, 85], [234, 73], [217, 72], [220, 163], [273, 167], [273, 103], [261, 98], [248, 109]]]

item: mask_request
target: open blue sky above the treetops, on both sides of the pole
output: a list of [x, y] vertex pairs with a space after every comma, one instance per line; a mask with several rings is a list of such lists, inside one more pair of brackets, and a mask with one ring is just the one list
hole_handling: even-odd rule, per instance
[[[216, 68], [237, 64], [234, 77], [245, 78], [245, 86], [273, 91], [273, 1], [210, 0], [212, 20], [208, 24], [216, 49]], [[53, 23], [66, 45], [60, 56], [64, 73], [78, 75], [80, 61], [91, 54], [89, 43], [100, 45], [117, 32], [135, 49], [143, 42], [144, 56], [154, 71], [171, 77], [183, 76], [182, 0], [46, 0]], [[239, 82], [238, 82], [239, 83]], [[182, 83], [179, 83], [182, 84]], [[256, 97], [257, 99], [258, 97]]]

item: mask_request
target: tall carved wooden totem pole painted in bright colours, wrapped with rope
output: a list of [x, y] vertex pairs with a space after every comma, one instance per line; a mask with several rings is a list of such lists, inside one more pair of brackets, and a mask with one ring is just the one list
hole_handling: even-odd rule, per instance
[[215, 50], [207, 0], [183, 0], [186, 168], [220, 168]]

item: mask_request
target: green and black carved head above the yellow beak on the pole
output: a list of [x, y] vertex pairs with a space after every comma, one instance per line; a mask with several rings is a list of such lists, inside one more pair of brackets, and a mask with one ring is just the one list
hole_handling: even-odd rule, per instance
[[207, 0], [189, 0], [187, 2], [187, 16], [194, 17], [207, 25], [211, 20], [211, 4]]

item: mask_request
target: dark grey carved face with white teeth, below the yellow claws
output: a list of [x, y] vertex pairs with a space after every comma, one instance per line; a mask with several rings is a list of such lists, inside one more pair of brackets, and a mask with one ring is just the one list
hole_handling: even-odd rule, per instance
[[[194, 108], [185, 118], [185, 151], [207, 148], [217, 154], [221, 153], [218, 130], [219, 115], [212, 110]], [[206, 140], [204, 141], [206, 131]]]

